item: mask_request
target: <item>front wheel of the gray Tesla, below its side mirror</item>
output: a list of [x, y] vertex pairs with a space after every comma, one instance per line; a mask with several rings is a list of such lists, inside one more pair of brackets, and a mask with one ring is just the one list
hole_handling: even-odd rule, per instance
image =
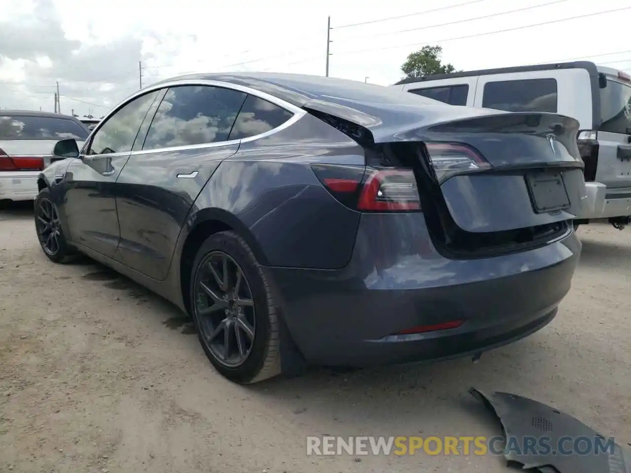
[[49, 260], [62, 263], [74, 255], [64, 237], [59, 223], [59, 212], [48, 188], [42, 189], [35, 197], [35, 230], [40, 246]]

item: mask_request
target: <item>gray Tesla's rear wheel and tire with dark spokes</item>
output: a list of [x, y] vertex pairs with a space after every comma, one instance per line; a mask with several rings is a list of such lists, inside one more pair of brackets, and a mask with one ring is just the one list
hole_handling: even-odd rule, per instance
[[[215, 268], [214, 273], [209, 270], [211, 267]], [[232, 272], [230, 268], [234, 267], [235, 272]], [[229, 277], [225, 276], [224, 269]], [[240, 283], [236, 283], [237, 280]], [[221, 284], [225, 290], [221, 289]], [[236, 286], [239, 289], [235, 290]], [[280, 329], [275, 305], [278, 298], [251, 248], [237, 233], [215, 233], [199, 247], [192, 267], [190, 297], [199, 342], [223, 377], [235, 383], [250, 384], [280, 374]], [[237, 306], [241, 302], [251, 306]], [[218, 332], [221, 324], [223, 329]], [[242, 328], [245, 326], [247, 330]], [[252, 333], [253, 339], [249, 338]], [[239, 353], [227, 356], [226, 346]], [[245, 355], [242, 349], [247, 351]], [[240, 359], [242, 356], [245, 358]]]

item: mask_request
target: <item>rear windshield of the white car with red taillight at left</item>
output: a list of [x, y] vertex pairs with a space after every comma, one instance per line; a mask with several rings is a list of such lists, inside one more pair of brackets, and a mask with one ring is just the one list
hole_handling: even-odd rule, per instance
[[85, 141], [88, 131], [62, 117], [0, 115], [0, 139], [64, 139]]

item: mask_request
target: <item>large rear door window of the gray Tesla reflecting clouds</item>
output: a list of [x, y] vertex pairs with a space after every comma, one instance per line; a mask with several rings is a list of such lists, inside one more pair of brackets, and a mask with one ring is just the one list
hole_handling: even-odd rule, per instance
[[205, 85], [170, 88], [156, 110], [143, 149], [226, 141], [246, 96]]

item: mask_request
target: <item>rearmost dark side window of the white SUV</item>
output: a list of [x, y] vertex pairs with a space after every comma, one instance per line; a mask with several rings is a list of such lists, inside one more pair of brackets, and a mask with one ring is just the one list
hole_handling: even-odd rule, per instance
[[482, 107], [506, 112], [557, 112], [557, 79], [487, 82]]

